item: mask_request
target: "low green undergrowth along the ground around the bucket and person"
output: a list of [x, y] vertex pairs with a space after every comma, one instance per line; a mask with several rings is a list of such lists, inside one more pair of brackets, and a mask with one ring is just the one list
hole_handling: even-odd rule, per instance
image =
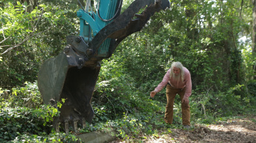
[[[171, 129], [182, 127], [179, 96], [175, 98], [173, 125], [168, 125], [164, 122], [165, 96], [149, 98], [148, 94], [136, 90], [128, 92], [126, 88], [130, 87], [112, 89], [111, 86], [116, 85], [98, 87], [100, 92], [92, 99], [93, 122], [80, 128], [80, 134], [101, 131], [123, 140], [133, 140], [149, 136], [157, 138], [160, 130], [171, 133]], [[253, 113], [255, 96], [242, 94], [246, 91], [244, 88], [244, 85], [236, 85], [225, 92], [207, 94], [193, 91], [190, 97], [192, 127], [193, 124], [214, 124], [234, 115]], [[119, 94], [120, 91], [125, 94]], [[59, 111], [42, 104], [36, 82], [26, 82], [24, 87], [10, 90], [0, 89], [0, 95], [0, 142], [81, 142], [72, 132], [66, 135], [53, 131], [52, 120]], [[58, 106], [61, 107], [63, 102]]]

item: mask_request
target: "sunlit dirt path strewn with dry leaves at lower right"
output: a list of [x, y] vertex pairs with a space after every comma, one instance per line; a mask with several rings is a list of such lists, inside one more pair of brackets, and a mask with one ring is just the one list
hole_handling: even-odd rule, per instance
[[[203, 125], [195, 124], [191, 129], [160, 130], [158, 135], [134, 138], [132, 142], [256, 142], [256, 116], [238, 116], [225, 122]], [[115, 140], [117, 142], [131, 142]]]

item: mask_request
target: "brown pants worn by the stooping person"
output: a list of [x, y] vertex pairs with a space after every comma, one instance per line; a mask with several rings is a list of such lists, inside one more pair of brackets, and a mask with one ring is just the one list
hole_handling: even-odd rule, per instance
[[[166, 123], [173, 124], [173, 104], [176, 94], [180, 95], [180, 101], [184, 97], [186, 87], [184, 89], [175, 89], [171, 85], [167, 84], [166, 87], [166, 98], [167, 105], [165, 107], [165, 117], [164, 120]], [[186, 105], [184, 102], [181, 104], [182, 110], [182, 124], [190, 126], [190, 105]]]

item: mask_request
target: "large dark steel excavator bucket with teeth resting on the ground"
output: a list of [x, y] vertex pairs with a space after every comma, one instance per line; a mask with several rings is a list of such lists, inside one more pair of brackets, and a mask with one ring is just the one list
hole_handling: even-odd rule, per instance
[[65, 123], [68, 133], [68, 123], [72, 122], [76, 131], [77, 122], [85, 126], [85, 120], [92, 122], [94, 111], [91, 97], [96, 80], [100, 72], [100, 65], [96, 67], [70, 67], [66, 55], [59, 54], [50, 58], [40, 67], [38, 87], [44, 104], [57, 107], [57, 102], [65, 99], [59, 109], [60, 116], [55, 118], [53, 126], [58, 131], [59, 122]]

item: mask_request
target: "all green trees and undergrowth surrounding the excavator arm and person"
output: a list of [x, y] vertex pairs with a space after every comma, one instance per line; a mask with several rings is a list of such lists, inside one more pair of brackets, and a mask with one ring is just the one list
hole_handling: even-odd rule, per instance
[[[165, 90], [149, 98], [172, 61], [182, 62], [192, 74], [192, 124], [253, 112], [253, 3], [170, 2], [169, 10], [152, 16], [141, 32], [124, 39], [113, 56], [102, 61], [92, 96], [95, 116], [81, 133], [114, 130], [117, 137], [128, 139], [179, 127], [179, 102], [175, 125], [166, 126]], [[130, 3], [124, 0], [122, 7]], [[78, 140], [51, 130], [51, 120], [59, 112], [42, 104], [36, 85], [42, 62], [63, 50], [66, 36], [78, 35], [78, 9], [76, 2], [66, 0], [0, 1], [0, 142]]]

